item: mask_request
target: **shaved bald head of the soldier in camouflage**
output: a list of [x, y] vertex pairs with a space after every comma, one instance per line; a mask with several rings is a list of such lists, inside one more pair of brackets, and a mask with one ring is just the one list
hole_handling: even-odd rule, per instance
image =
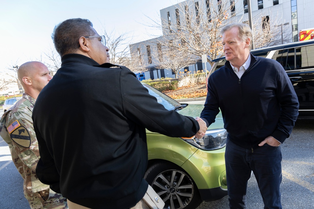
[[22, 64], [17, 73], [25, 93], [35, 99], [52, 78], [46, 65], [37, 61]]

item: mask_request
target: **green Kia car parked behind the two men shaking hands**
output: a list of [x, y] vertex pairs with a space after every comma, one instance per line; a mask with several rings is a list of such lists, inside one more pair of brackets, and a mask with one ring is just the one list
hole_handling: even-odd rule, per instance
[[[153, 87], [149, 94], [168, 110], [196, 118], [203, 105], [180, 104]], [[170, 209], [195, 209], [202, 201], [227, 195], [225, 146], [227, 132], [219, 113], [205, 137], [172, 138], [146, 130], [148, 167], [144, 178]]]

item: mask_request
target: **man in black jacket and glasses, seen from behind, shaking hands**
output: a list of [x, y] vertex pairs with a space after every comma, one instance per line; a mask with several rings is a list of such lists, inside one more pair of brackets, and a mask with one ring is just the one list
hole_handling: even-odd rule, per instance
[[[191, 137], [204, 134], [204, 121], [166, 110], [129, 69], [108, 63], [105, 37], [89, 20], [62, 22], [53, 40], [62, 65], [33, 111], [39, 179], [69, 208], [149, 208], [145, 128]], [[163, 207], [156, 193], [150, 198]]]

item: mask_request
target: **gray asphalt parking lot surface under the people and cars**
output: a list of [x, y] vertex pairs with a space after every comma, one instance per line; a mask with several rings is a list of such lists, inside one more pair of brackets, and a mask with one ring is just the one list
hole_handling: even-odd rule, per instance
[[[2, 115], [2, 113], [2, 109], [0, 109], [0, 114]], [[290, 138], [281, 146], [283, 155], [281, 201], [283, 208], [314, 208], [314, 120], [297, 120]], [[23, 179], [11, 160], [7, 144], [1, 137], [0, 175], [0, 208], [29, 208], [22, 191]], [[228, 197], [218, 201], [203, 202], [197, 209], [205, 208], [229, 208]], [[254, 175], [248, 182], [247, 208], [263, 208], [263, 200]]]

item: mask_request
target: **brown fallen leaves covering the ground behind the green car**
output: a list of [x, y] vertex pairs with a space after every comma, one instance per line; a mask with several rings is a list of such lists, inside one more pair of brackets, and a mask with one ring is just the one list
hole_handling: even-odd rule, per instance
[[177, 88], [176, 90], [165, 91], [163, 93], [173, 99], [206, 97], [207, 95], [206, 83], [195, 86], [184, 86]]

